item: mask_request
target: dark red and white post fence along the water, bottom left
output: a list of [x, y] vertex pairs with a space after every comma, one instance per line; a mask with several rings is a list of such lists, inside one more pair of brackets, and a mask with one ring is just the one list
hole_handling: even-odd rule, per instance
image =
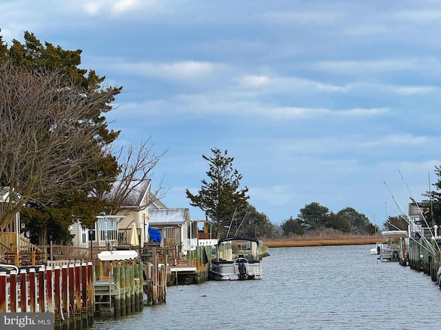
[[0, 312], [54, 313], [56, 328], [87, 324], [94, 313], [93, 279], [92, 263], [0, 272], [0, 288], [6, 288], [0, 289]]

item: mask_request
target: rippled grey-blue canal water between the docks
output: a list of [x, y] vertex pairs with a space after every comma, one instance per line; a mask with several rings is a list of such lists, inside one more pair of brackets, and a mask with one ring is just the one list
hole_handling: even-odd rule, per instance
[[270, 248], [263, 280], [167, 289], [167, 303], [92, 329], [441, 329], [430, 276], [380, 262], [373, 245]]

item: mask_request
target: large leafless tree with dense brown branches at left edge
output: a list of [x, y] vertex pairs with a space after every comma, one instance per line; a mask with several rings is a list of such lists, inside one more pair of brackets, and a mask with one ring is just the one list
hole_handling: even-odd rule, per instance
[[0, 225], [28, 201], [90, 184], [85, 168], [102, 148], [90, 118], [108, 100], [105, 89], [81, 90], [61, 71], [0, 64], [0, 190], [10, 193]]

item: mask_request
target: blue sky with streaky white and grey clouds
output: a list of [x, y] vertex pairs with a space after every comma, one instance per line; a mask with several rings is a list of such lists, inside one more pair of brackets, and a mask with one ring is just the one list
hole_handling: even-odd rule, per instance
[[152, 186], [192, 219], [212, 148], [275, 224], [316, 202], [381, 227], [438, 180], [440, 1], [2, 0], [0, 29], [123, 86], [117, 143], [168, 150]]

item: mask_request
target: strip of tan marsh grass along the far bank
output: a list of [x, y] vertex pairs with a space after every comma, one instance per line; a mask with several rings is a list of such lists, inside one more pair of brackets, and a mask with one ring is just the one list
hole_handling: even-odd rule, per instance
[[290, 248], [300, 246], [325, 246], [325, 245], [365, 245], [375, 244], [381, 237], [375, 235], [350, 235], [324, 233], [317, 235], [293, 236], [287, 239], [263, 240], [263, 245], [268, 248]]

